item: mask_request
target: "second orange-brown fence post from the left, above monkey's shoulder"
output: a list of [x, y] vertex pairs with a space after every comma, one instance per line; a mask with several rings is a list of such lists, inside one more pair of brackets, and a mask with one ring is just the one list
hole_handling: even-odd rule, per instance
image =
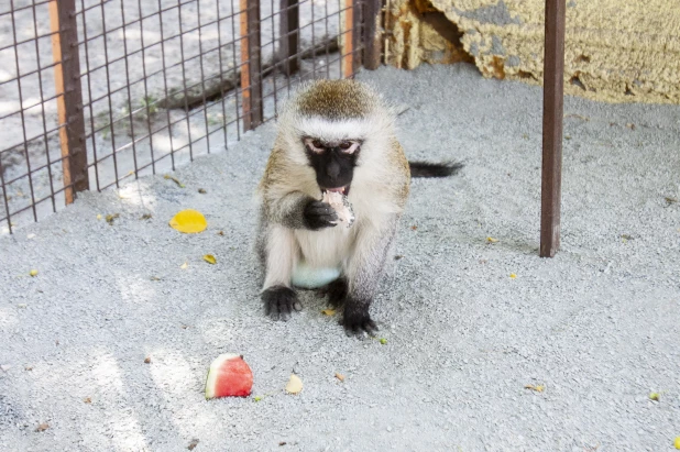
[[262, 123], [260, 0], [240, 0], [240, 2], [243, 130], [248, 131]]

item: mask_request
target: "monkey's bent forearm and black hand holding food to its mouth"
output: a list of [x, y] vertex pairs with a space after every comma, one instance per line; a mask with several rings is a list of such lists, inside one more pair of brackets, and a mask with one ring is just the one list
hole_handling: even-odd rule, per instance
[[314, 199], [301, 191], [292, 191], [265, 203], [267, 218], [272, 223], [289, 229], [310, 229], [334, 227], [338, 214], [326, 202]]

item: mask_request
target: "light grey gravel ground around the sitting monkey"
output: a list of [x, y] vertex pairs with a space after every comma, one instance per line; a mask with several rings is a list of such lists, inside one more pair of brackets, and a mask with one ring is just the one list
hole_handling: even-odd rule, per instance
[[[177, 170], [186, 188], [142, 178], [0, 238], [7, 450], [673, 449], [680, 108], [567, 99], [562, 250], [546, 260], [540, 89], [468, 65], [361, 78], [410, 106], [409, 157], [467, 164], [414, 183], [372, 307], [386, 343], [347, 338], [309, 293], [287, 323], [264, 318], [251, 244], [267, 125]], [[171, 229], [185, 208], [208, 230]], [[223, 352], [245, 356], [253, 397], [204, 399]]]

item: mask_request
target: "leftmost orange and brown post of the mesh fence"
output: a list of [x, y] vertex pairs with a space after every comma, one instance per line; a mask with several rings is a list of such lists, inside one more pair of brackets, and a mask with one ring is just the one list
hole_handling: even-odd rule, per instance
[[89, 189], [80, 60], [77, 44], [78, 31], [75, 13], [75, 0], [50, 2], [50, 24], [54, 33], [52, 35], [52, 53], [56, 64], [54, 82], [58, 96], [59, 124], [63, 125], [59, 129], [59, 140], [62, 142], [62, 165], [64, 168], [64, 196], [67, 205], [74, 201], [77, 191]]

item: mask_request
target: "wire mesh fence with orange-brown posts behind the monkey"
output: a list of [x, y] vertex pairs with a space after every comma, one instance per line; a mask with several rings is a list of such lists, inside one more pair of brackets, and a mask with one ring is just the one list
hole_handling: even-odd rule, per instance
[[377, 67], [380, 1], [3, 1], [0, 233], [229, 148], [301, 80]]

